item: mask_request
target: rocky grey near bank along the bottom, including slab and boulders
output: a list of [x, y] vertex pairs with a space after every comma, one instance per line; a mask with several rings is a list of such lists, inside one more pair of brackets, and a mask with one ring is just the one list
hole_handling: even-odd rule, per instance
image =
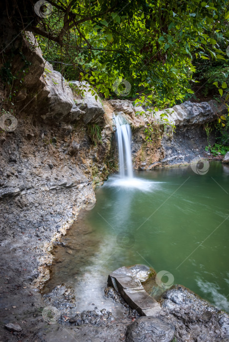
[[[105, 297], [123, 305], [123, 314], [116, 317], [97, 307], [77, 311], [74, 291], [56, 286], [44, 295], [42, 311], [48, 322], [34, 332], [34, 339], [44, 341], [106, 342], [228, 342], [229, 315], [200, 299], [184, 286], [174, 285], [157, 299], [146, 285], [155, 282], [156, 273], [145, 265], [122, 267], [108, 277]], [[153, 280], [153, 281], [152, 281]], [[152, 293], [152, 288], [150, 293]], [[48, 315], [49, 313], [49, 315]]]

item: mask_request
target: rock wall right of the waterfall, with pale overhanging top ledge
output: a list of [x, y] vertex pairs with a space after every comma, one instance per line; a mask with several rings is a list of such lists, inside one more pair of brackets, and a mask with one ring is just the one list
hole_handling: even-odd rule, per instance
[[[188, 164], [206, 157], [205, 147], [208, 142], [214, 142], [215, 132], [207, 137], [205, 127], [217, 119], [217, 114], [227, 113], [226, 106], [213, 100], [201, 103], [186, 101], [166, 110], [168, 122], [176, 126], [173, 132], [172, 129], [164, 129], [160, 116], [163, 111], [153, 116], [146, 108], [134, 107], [126, 100], [110, 100], [109, 103], [132, 126], [133, 164], [135, 169], [140, 170]], [[141, 115], [136, 117], [136, 112]], [[146, 141], [144, 133], [149, 123], [154, 124], [151, 143]]]

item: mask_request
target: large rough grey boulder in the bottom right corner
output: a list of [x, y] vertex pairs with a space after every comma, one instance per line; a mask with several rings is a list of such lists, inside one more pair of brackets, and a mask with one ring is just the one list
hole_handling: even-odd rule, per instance
[[228, 341], [229, 315], [187, 288], [178, 285], [167, 290], [161, 303], [164, 317], [172, 322], [184, 341]]

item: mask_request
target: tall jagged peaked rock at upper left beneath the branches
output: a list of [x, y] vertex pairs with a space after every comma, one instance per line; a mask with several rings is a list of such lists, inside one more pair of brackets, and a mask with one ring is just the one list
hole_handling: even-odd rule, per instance
[[[47, 122], [76, 121], [83, 112], [75, 105], [68, 83], [43, 59], [42, 51], [30, 32], [26, 32], [26, 39], [23, 53], [31, 66], [17, 97], [21, 110], [29, 105], [30, 110], [36, 111]], [[31, 98], [30, 92], [35, 96]]]

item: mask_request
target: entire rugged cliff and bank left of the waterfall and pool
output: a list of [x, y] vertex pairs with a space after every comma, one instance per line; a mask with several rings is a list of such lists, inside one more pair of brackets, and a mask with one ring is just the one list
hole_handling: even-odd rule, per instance
[[[73, 94], [31, 44], [23, 42], [31, 72], [17, 93], [18, 125], [0, 133], [0, 310], [7, 309], [4, 324], [27, 318], [21, 328], [28, 341], [33, 317], [43, 306], [37, 290], [49, 278], [54, 241], [95, 201], [95, 186], [115, 171], [112, 108], [90, 94], [83, 99]], [[15, 68], [21, 63], [15, 61]], [[90, 130], [95, 124], [99, 137]], [[0, 336], [18, 340], [2, 325]]]

